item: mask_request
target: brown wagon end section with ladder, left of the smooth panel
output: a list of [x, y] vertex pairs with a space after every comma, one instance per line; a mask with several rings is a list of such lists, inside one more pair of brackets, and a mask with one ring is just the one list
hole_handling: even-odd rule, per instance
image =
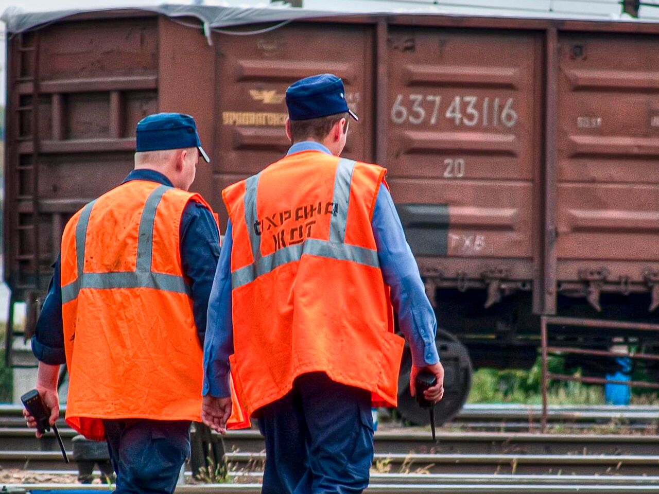
[[5, 262], [19, 299], [47, 286], [71, 214], [132, 167], [135, 124], [158, 109], [157, 22], [54, 24], [9, 41]]

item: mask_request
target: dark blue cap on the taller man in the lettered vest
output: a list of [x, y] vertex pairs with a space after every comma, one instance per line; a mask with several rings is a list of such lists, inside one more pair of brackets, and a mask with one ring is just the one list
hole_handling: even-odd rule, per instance
[[293, 82], [286, 90], [286, 106], [291, 120], [309, 120], [337, 113], [357, 115], [345, 101], [343, 81], [334, 74], [319, 74]]

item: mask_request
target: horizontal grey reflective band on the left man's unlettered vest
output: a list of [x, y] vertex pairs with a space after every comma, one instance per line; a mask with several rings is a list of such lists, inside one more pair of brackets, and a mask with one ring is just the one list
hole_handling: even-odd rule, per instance
[[[62, 303], [66, 304], [78, 296], [72, 283], [62, 287]], [[154, 288], [166, 292], [191, 294], [190, 287], [183, 277], [163, 273], [142, 273], [138, 271], [120, 271], [113, 273], [83, 273], [80, 288]]]

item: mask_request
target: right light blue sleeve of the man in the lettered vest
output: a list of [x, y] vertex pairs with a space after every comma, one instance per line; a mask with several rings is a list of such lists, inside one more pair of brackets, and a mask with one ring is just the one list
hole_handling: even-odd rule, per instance
[[371, 220], [380, 269], [391, 288], [391, 303], [398, 315], [398, 325], [412, 351], [415, 366], [428, 366], [440, 361], [435, 343], [437, 319], [418, 272], [416, 260], [389, 190], [383, 185], [378, 192]]

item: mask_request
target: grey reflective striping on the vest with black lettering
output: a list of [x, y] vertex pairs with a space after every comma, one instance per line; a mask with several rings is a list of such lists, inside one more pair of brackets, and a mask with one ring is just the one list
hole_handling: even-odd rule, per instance
[[254, 262], [231, 273], [232, 289], [251, 283], [256, 278], [270, 273], [276, 267], [299, 261], [304, 254], [380, 267], [377, 250], [345, 243], [345, 227], [348, 220], [348, 205], [354, 169], [355, 161], [345, 158], [339, 159], [334, 177], [332, 200], [336, 213], [330, 219], [329, 240], [308, 238], [301, 244], [289, 245], [264, 257], [261, 256], [261, 236], [256, 233], [256, 225], [258, 225], [256, 195], [260, 173], [247, 178], [244, 194], [244, 215]]

